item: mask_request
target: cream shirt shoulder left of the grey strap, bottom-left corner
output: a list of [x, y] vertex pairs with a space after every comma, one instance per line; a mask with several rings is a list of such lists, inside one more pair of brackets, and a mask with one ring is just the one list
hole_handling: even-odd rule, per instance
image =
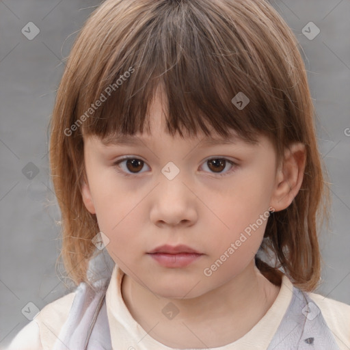
[[40, 310], [14, 337], [6, 350], [52, 349], [59, 332], [68, 318], [75, 293], [64, 295]]

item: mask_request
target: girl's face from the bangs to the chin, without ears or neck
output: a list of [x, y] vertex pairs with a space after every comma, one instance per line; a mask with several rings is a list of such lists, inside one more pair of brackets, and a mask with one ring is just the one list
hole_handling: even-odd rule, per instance
[[[109, 239], [111, 258], [137, 283], [169, 298], [200, 296], [253, 273], [274, 203], [272, 144], [265, 137], [257, 145], [219, 146], [204, 145], [204, 134], [173, 138], [163, 130], [159, 99], [150, 115], [152, 136], [137, 134], [137, 145], [84, 140], [83, 200]], [[113, 165], [122, 156], [136, 160]], [[187, 245], [202, 255], [148, 254], [161, 245]]]

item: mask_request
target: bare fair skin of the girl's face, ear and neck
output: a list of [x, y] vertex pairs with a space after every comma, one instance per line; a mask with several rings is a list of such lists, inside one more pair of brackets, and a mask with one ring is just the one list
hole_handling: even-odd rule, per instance
[[[291, 204], [302, 183], [305, 148], [291, 145], [284, 166], [276, 169], [266, 137], [254, 146], [238, 140], [200, 148], [204, 134], [182, 139], [165, 132], [163, 109], [157, 94], [150, 108], [152, 134], [137, 134], [139, 146], [104, 146], [85, 137], [83, 201], [126, 274], [124, 302], [146, 332], [152, 329], [149, 336], [180, 349], [219, 347], [249, 332], [280, 290], [254, 265], [267, 220], [210, 276], [204, 269], [269, 207], [280, 211]], [[144, 163], [113, 165], [125, 155]], [[237, 165], [226, 161], [216, 170], [208, 162], [215, 157]], [[180, 170], [172, 180], [161, 172], [170, 161]], [[146, 254], [163, 244], [185, 244], [204, 255], [187, 267], [163, 267]], [[174, 319], [162, 313], [170, 301], [178, 308]]]

